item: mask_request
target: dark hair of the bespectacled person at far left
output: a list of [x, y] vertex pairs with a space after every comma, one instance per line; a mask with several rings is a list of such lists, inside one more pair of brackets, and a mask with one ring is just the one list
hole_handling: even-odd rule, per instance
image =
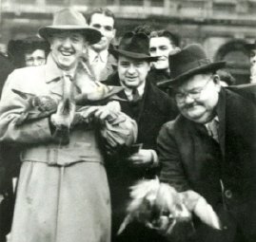
[[31, 53], [36, 49], [44, 50], [47, 56], [49, 54], [49, 43], [37, 36], [30, 36], [20, 40], [10, 40], [8, 43], [10, 62], [17, 68], [24, 67], [25, 54]]

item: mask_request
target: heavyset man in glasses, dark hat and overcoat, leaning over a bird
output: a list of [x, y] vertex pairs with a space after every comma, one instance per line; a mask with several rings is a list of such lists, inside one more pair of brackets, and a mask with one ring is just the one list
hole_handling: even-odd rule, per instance
[[215, 73], [225, 63], [211, 63], [203, 47], [189, 45], [171, 60], [173, 79], [165, 84], [181, 114], [157, 140], [160, 178], [203, 195], [219, 214], [222, 231], [195, 221], [195, 241], [256, 241], [255, 104], [221, 87]]

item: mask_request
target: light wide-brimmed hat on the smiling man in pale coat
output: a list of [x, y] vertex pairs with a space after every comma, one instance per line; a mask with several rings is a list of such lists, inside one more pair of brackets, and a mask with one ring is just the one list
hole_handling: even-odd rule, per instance
[[53, 16], [51, 26], [39, 28], [38, 33], [41, 37], [48, 40], [49, 36], [56, 32], [62, 31], [80, 31], [86, 36], [89, 44], [96, 44], [101, 40], [100, 31], [89, 28], [87, 21], [81, 12], [75, 9], [61, 9]]

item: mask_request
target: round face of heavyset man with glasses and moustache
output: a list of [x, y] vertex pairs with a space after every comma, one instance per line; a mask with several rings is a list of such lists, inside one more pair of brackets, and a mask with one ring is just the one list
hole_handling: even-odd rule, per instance
[[175, 92], [175, 100], [181, 114], [190, 121], [210, 121], [215, 116], [220, 88], [218, 76], [197, 74], [190, 77], [179, 85]]

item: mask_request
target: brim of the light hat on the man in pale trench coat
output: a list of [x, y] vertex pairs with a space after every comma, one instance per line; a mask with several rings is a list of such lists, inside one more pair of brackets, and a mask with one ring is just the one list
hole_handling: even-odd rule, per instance
[[63, 31], [79, 31], [81, 32], [89, 42], [89, 45], [98, 43], [101, 40], [102, 34], [100, 31], [94, 28], [84, 28], [79, 26], [47, 26], [38, 29], [39, 35], [48, 40], [49, 36], [53, 33], [63, 32]]

